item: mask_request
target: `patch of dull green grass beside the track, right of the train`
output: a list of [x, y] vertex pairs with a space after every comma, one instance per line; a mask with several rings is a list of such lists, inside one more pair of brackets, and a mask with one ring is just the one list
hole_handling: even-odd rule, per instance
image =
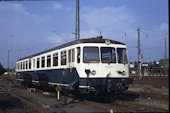
[[140, 84], [133, 84], [129, 85], [129, 88], [136, 91], [142, 91], [145, 93], [153, 93], [153, 94], [168, 94], [169, 89], [168, 88], [155, 88], [151, 85], [140, 85]]

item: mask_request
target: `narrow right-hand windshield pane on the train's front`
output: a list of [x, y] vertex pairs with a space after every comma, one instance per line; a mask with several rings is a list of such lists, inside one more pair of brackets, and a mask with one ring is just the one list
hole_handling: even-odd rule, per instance
[[126, 48], [117, 48], [118, 63], [127, 64]]

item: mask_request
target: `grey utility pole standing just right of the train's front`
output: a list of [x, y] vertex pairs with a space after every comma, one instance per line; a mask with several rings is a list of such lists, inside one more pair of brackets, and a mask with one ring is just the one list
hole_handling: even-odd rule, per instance
[[140, 49], [140, 27], [137, 29], [138, 31], [138, 75], [139, 75], [139, 79], [142, 78], [142, 71], [141, 71], [141, 49]]

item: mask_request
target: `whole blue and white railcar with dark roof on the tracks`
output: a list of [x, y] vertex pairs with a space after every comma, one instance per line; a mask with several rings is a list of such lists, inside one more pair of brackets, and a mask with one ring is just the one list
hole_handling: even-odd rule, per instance
[[47, 84], [85, 93], [114, 92], [132, 84], [128, 64], [124, 43], [98, 36], [19, 59], [16, 78], [26, 84]]

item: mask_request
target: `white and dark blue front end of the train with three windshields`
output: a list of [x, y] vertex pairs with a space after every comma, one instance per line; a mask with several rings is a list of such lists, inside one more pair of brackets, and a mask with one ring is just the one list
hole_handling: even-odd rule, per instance
[[129, 77], [126, 45], [107, 41], [82, 45], [79, 88], [86, 92], [120, 92], [128, 89], [133, 82]]

